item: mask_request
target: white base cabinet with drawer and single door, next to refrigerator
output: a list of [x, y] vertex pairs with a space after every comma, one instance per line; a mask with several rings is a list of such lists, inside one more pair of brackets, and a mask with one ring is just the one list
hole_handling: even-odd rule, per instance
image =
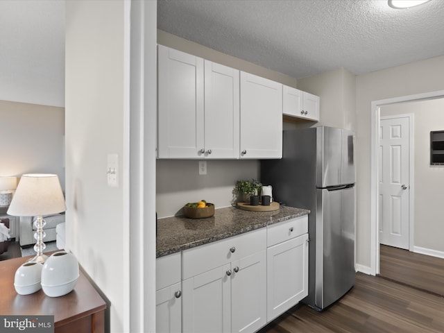
[[307, 228], [307, 216], [302, 216], [268, 230], [267, 321], [308, 295]]

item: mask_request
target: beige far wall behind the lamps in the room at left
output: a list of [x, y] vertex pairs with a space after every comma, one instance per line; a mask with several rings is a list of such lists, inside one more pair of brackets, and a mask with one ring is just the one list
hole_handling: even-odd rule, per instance
[[65, 189], [65, 109], [0, 101], [0, 176], [56, 173]]

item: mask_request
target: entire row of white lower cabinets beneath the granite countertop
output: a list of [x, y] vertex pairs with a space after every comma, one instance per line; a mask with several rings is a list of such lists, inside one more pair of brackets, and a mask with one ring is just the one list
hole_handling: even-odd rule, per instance
[[157, 333], [257, 332], [308, 294], [308, 218], [161, 257], [156, 290]]

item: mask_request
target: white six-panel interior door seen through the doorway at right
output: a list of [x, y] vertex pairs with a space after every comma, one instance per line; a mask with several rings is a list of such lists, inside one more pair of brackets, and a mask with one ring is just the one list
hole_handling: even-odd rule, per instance
[[410, 118], [381, 117], [379, 243], [409, 249]]

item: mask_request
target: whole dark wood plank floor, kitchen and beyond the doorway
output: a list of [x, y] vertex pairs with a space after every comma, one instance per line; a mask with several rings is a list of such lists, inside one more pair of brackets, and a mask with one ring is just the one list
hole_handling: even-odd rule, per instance
[[[400, 253], [392, 249], [381, 251], [381, 271], [393, 280], [403, 277], [402, 283], [357, 273], [355, 287], [325, 311], [316, 312], [306, 305], [294, 307], [260, 333], [444, 332], [444, 297], [438, 296], [440, 291], [432, 287], [443, 276], [444, 265], [427, 256], [417, 258], [414, 253], [414, 259], [409, 259], [409, 251]], [[401, 259], [403, 256], [406, 257]], [[431, 266], [427, 264], [429, 260]], [[411, 277], [407, 279], [405, 275]], [[426, 281], [434, 293], [420, 290], [418, 286], [424, 288]], [[407, 282], [414, 286], [406, 285]], [[444, 283], [444, 279], [438, 282]]]

